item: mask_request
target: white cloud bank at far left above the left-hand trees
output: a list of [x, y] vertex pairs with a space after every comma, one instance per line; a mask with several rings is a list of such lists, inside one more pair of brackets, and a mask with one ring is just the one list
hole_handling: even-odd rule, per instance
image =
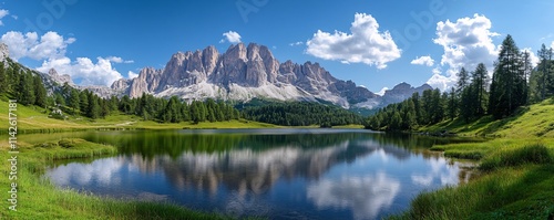
[[55, 69], [60, 74], [68, 74], [81, 85], [107, 85], [122, 78], [122, 75], [112, 66], [112, 62], [130, 62], [117, 56], [98, 57], [94, 63], [89, 57], [76, 57], [72, 61], [65, 55], [69, 44], [75, 42], [74, 38], [63, 38], [57, 32], [47, 32], [39, 36], [35, 32], [10, 31], [0, 38], [8, 45], [10, 57], [19, 60], [29, 57], [42, 61], [38, 71], [48, 72]]

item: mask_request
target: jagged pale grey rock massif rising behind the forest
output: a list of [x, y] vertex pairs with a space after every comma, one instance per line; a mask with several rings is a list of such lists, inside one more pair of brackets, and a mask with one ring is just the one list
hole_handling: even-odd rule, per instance
[[376, 97], [353, 82], [335, 78], [318, 63], [279, 63], [267, 46], [255, 43], [232, 45], [225, 53], [214, 46], [178, 52], [163, 70], [144, 69], [138, 77], [117, 81], [112, 88], [132, 97], [150, 93], [185, 99], [319, 98], [343, 107]]

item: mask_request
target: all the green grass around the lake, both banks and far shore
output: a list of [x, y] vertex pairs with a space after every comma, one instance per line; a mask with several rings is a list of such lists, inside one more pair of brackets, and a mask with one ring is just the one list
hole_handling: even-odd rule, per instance
[[[0, 101], [8, 106], [8, 102]], [[222, 123], [160, 124], [136, 116], [113, 114], [91, 121], [70, 116], [49, 118], [40, 107], [18, 106], [18, 129], [24, 133], [52, 133], [85, 129], [196, 129], [196, 128], [278, 128], [249, 121]], [[0, 115], [8, 115], [0, 107]], [[8, 126], [7, 117], [0, 124]], [[348, 125], [336, 128], [359, 128]], [[502, 121], [483, 117], [475, 122], [443, 122], [420, 128], [420, 132], [449, 130], [460, 136], [490, 136], [482, 143], [437, 145], [431, 150], [444, 156], [470, 159], [478, 166], [473, 178], [456, 187], [447, 187], [416, 197], [408, 211], [390, 219], [553, 219], [554, 218], [554, 101], [548, 99], [521, 108], [519, 114]], [[8, 136], [2, 135], [0, 148], [8, 151]], [[8, 202], [0, 219], [228, 219], [217, 213], [188, 210], [171, 203], [126, 202], [111, 198], [58, 189], [41, 178], [53, 160], [95, 158], [116, 153], [112, 146], [82, 139], [62, 139], [29, 144], [18, 142], [18, 209]], [[8, 161], [9, 154], [0, 159]], [[7, 164], [8, 165], [8, 164]], [[9, 166], [0, 171], [8, 177]], [[0, 189], [10, 190], [10, 180], [0, 179]]]

